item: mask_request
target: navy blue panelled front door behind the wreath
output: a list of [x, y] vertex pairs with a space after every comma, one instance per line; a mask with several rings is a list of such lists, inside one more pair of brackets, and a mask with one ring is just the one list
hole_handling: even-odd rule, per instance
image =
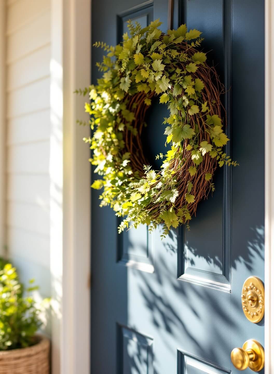
[[[167, 13], [168, 0], [94, 0], [92, 41], [116, 45], [129, 18], [143, 27], [160, 18], [165, 32]], [[241, 308], [244, 280], [264, 281], [264, 2], [175, 0], [173, 23], [203, 32], [228, 89], [227, 151], [240, 166], [217, 172], [190, 231], [162, 241], [145, 226], [119, 235], [92, 191], [92, 374], [238, 373], [231, 350], [264, 344], [264, 320], [249, 322]], [[92, 50], [93, 83], [103, 53]], [[165, 149], [163, 117], [154, 102], [143, 135], [151, 163]]]

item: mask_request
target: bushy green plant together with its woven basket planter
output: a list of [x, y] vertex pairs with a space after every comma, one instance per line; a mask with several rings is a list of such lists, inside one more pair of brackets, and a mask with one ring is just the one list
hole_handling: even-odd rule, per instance
[[24, 289], [12, 264], [0, 270], [0, 374], [49, 374], [50, 343], [37, 334], [41, 306], [33, 283]]

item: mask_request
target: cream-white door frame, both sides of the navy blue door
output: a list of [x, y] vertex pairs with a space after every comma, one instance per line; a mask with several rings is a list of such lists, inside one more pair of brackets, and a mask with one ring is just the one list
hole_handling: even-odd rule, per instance
[[[90, 290], [87, 285], [90, 276], [90, 165], [87, 162], [88, 147], [78, 141], [86, 135], [85, 129], [75, 125], [76, 118], [83, 118], [82, 102], [72, 92], [90, 82], [91, 0], [51, 0], [51, 4], [52, 60], [57, 59], [60, 68], [59, 76], [52, 73], [52, 98], [59, 98], [64, 105], [58, 121], [54, 117], [52, 120], [52, 135], [57, 131], [60, 141], [56, 144], [52, 137], [51, 156], [62, 155], [64, 158], [64, 163], [52, 165], [51, 169], [52, 176], [56, 168], [64, 176], [59, 186], [62, 203], [58, 215], [55, 202], [51, 205], [51, 219], [59, 228], [53, 227], [51, 233], [52, 292], [56, 297], [56, 312], [61, 311], [53, 312], [52, 316], [52, 373], [86, 374], [90, 368]], [[271, 323], [274, 301], [270, 298], [271, 291], [274, 292], [274, 275], [271, 276], [274, 274], [274, 255], [271, 256], [271, 249], [274, 254], [274, 199], [271, 197], [274, 194], [274, 154], [271, 153], [271, 144], [274, 144], [274, 108], [271, 107], [274, 99], [274, 25], [271, 25], [271, 19], [274, 19], [274, 3], [265, 0], [266, 374], [274, 372], [274, 324]], [[52, 112], [54, 114], [54, 107]], [[81, 222], [80, 226], [78, 222]], [[56, 269], [59, 270], [56, 272]], [[76, 307], [71, 310], [71, 305], [81, 305], [81, 310]], [[69, 326], [73, 326], [73, 330], [68, 335]], [[80, 364], [81, 370], [77, 366]]]

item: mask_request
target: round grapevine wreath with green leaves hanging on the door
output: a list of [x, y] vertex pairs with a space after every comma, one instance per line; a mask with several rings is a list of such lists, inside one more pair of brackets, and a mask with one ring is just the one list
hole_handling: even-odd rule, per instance
[[[85, 108], [93, 136], [84, 140], [93, 150], [95, 173], [103, 176], [91, 186], [103, 188], [100, 205], [125, 217], [119, 232], [163, 223], [164, 237], [170, 227], [188, 224], [198, 202], [214, 191], [217, 164], [237, 163], [223, 150], [229, 139], [221, 120], [222, 86], [206, 54], [197, 50], [200, 31], [181, 25], [163, 34], [160, 25], [156, 20], [141, 28], [129, 21], [130, 36], [125, 33], [121, 44], [95, 43], [107, 51], [97, 63], [104, 74], [97, 86], [76, 92], [89, 92], [91, 99]], [[156, 156], [163, 159], [160, 171], [149, 165], [141, 142], [154, 96], [170, 110], [163, 119], [170, 149]]]

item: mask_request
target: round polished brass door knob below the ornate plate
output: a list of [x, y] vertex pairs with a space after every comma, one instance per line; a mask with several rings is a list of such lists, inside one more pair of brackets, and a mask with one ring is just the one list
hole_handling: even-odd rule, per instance
[[253, 371], [260, 371], [265, 364], [264, 348], [256, 340], [247, 340], [243, 348], [233, 349], [231, 362], [238, 370], [245, 370], [249, 367]]

